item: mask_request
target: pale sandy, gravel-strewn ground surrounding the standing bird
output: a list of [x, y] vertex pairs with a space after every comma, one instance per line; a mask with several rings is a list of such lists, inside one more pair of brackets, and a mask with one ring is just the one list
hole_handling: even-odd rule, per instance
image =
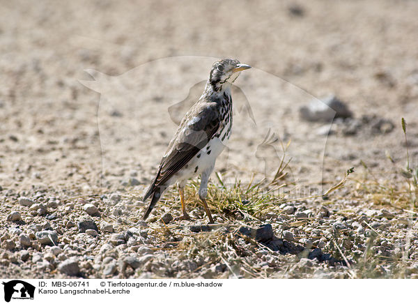
[[[376, 254], [389, 252], [387, 256], [396, 255], [396, 261], [403, 257], [402, 267], [408, 271], [400, 276], [417, 275], [418, 236], [412, 229], [416, 218], [405, 212], [416, 214], [414, 206], [385, 204], [385, 195], [363, 187], [366, 178], [392, 182], [396, 189], [404, 186], [398, 174], [407, 163], [402, 117], [407, 122], [410, 167], [418, 167], [417, 1], [1, 2], [3, 277], [393, 278], [393, 265], [387, 261], [376, 266], [377, 272], [373, 268], [370, 276], [353, 270], [356, 252], [364, 254], [372, 232], [386, 236], [389, 243], [382, 245], [385, 240], [380, 240]], [[238, 258], [212, 261], [199, 260], [196, 252], [188, 256], [187, 250], [167, 253], [160, 249], [171, 248], [171, 243], [180, 242], [181, 249], [203, 242], [200, 236], [180, 239], [176, 232], [165, 241], [153, 234], [163, 226], [161, 215], [179, 214], [178, 200], [157, 206], [155, 219], [144, 226], [152, 235], [148, 241], [144, 243], [146, 236], [138, 231], [131, 231], [133, 238], [126, 236], [134, 226], [130, 219], [139, 220], [144, 212], [146, 204], [139, 197], [155, 174], [178, 119], [199, 97], [211, 63], [224, 57], [253, 68], [242, 72], [235, 83], [233, 136], [229, 153], [222, 155], [215, 171], [231, 183], [238, 179], [245, 185], [254, 174], [258, 179], [271, 178], [283, 152], [279, 142], [263, 146], [269, 129], [284, 144], [290, 140], [286, 191], [308, 187], [311, 194], [318, 194], [338, 183], [347, 169], [355, 168], [346, 188], [326, 202], [286, 203], [278, 206], [276, 215], [263, 214], [252, 222], [245, 218], [243, 223], [258, 227], [269, 222], [274, 236], [302, 248], [312, 245], [311, 234], [318, 234], [313, 248], [336, 259], [353, 259], [351, 268], [341, 262], [332, 270], [334, 266], [324, 266], [320, 258], [312, 264], [311, 259], [283, 254], [297, 252], [294, 248], [274, 250], [268, 244], [273, 252], [251, 249], [254, 259], [247, 264], [258, 266], [247, 270], [229, 267], [228, 263], [243, 265]], [[331, 126], [331, 121], [300, 118], [300, 107], [314, 96], [330, 93], [349, 107], [353, 119], [334, 121]], [[215, 174], [212, 181], [217, 183]], [[306, 192], [297, 193], [306, 196]], [[29, 197], [32, 206], [22, 206], [22, 197]], [[98, 225], [110, 222], [114, 229], [100, 228], [99, 236], [79, 233], [77, 223], [86, 215], [86, 204], [98, 208], [100, 216], [92, 213]], [[285, 211], [286, 207], [295, 210]], [[380, 216], [387, 214], [382, 208], [396, 218]], [[8, 220], [12, 211], [18, 211], [21, 219]], [[359, 220], [360, 213], [368, 220]], [[205, 222], [203, 215], [200, 208], [194, 218]], [[224, 216], [217, 218], [220, 222]], [[288, 225], [301, 218], [309, 218], [309, 223], [302, 223], [302, 228]], [[226, 224], [235, 225], [240, 218], [236, 220]], [[340, 230], [336, 223], [343, 222], [344, 231], [357, 231], [347, 236], [353, 237], [354, 245], [346, 245], [341, 236], [341, 254], [339, 245], [332, 246], [332, 238], [312, 232], [311, 220], [318, 220], [319, 226], [329, 224], [334, 232]], [[399, 222], [392, 225], [395, 220]], [[61, 251], [40, 243], [36, 232], [45, 229], [56, 231], [55, 245]], [[214, 239], [224, 240], [219, 233]], [[21, 234], [29, 237], [28, 245], [23, 245]], [[123, 235], [119, 243], [116, 234]], [[365, 235], [357, 239], [357, 234]], [[325, 246], [319, 243], [322, 237], [327, 240]], [[405, 243], [407, 258], [402, 253]], [[88, 250], [93, 245], [100, 252]], [[242, 246], [247, 245], [251, 244]], [[280, 246], [286, 247], [286, 241]], [[22, 251], [30, 258], [22, 259]], [[150, 252], [153, 259], [145, 259]], [[180, 259], [178, 254], [185, 257]], [[276, 262], [263, 254], [273, 254]], [[127, 256], [139, 259], [138, 263], [130, 264]], [[74, 257], [79, 259], [79, 271], [71, 273], [59, 266]], [[170, 259], [186, 266], [167, 270], [162, 264]], [[192, 259], [196, 267], [190, 266]], [[115, 269], [109, 266], [112, 263]], [[133, 270], [126, 272], [126, 265]], [[300, 271], [289, 273], [295, 266]]]

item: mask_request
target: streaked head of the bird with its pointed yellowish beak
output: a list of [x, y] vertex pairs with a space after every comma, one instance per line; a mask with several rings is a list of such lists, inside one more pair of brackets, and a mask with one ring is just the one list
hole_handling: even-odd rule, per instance
[[236, 59], [221, 59], [213, 63], [209, 75], [209, 84], [215, 91], [219, 91], [225, 85], [231, 86], [238, 75], [240, 75], [240, 71], [249, 68], [251, 66], [242, 64]]

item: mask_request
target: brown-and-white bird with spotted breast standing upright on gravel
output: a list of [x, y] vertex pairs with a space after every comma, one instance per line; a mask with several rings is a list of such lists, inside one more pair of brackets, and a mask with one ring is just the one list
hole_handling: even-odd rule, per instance
[[143, 216], [146, 220], [164, 190], [177, 183], [183, 215], [176, 220], [191, 220], [187, 213], [184, 188], [189, 178], [201, 175], [199, 199], [214, 223], [206, 203], [209, 176], [219, 154], [224, 150], [232, 130], [231, 86], [242, 70], [251, 66], [236, 59], [213, 63], [205, 89], [185, 114], [162, 157], [157, 174], [144, 195], [150, 203]]

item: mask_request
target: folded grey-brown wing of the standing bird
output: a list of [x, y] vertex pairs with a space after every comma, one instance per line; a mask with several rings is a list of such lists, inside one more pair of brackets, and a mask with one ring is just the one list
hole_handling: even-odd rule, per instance
[[160, 185], [164, 185], [191, 160], [201, 149], [203, 149], [220, 125], [219, 111], [216, 102], [205, 102], [199, 107], [194, 107], [186, 114], [185, 119], [171, 139], [169, 149], [161, 160], [155, 180], [144, 196], [144, 201]]

